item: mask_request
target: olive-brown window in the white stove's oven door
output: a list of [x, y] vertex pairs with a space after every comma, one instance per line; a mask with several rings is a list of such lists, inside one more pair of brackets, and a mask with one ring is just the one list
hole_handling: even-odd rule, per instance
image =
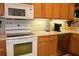
[[14, 45], [14, 56], [32, 53], [32, 42]]

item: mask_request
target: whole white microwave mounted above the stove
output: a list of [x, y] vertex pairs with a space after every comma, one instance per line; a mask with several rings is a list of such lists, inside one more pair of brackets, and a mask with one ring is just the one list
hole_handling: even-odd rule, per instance
[[17, 19], [33, 19], [33, 5], [20, 3], [6, 3], [5, 17]]

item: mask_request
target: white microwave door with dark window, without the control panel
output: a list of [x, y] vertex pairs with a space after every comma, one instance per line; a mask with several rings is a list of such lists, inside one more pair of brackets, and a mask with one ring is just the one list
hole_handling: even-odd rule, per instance
[[27, 7], [21, 4], [5, 4], [5, 17], [26, 19], [28, 16]]

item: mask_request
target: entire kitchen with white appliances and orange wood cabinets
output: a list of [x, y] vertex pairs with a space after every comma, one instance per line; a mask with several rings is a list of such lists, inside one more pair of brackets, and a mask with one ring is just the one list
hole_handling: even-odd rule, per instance
[[0, 3], [0, 56], [78, 56], [78, 3]]

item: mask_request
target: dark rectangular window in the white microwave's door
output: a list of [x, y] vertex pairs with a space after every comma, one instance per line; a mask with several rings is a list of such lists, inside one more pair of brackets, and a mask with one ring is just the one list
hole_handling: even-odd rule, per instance
[[25, 10], [24, 9], [9, 8], [8, 13], [11, 16], [25, 16]]

